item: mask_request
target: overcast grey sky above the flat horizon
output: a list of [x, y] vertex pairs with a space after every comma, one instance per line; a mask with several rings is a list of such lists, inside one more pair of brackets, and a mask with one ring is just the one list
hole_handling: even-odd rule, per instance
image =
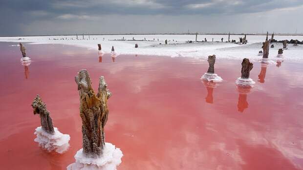
[[0, 0], [0, 16], [0, 36], [303, 32], [303, 0]]

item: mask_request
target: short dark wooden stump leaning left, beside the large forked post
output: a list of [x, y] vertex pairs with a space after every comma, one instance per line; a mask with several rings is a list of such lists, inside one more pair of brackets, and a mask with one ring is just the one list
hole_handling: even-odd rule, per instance
[[34, 114], [39, 114], [40, 116], [42, 129], [49, 134], [53, 134], [55, 131], [50, 113], [46, 109], [46, 106], [42, 102], [39, 95], [37, 95], [37, 97], [34, 99], [32, 107], [34, 109]]

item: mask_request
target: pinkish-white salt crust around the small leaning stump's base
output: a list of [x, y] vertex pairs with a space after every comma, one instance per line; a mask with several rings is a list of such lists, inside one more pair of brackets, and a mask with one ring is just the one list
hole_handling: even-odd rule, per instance
[[68, 141], [70, 136], [68, 134], [62, 134], [57, 127], [54, 127], [54, 134], [49, 134], [42, 129], [42, 127], [37, 127], [35, 135], [37, 138], [34, 139], [35, 142], [39, 143], [39, 146], [48, 151], [56, 151], [58, 153], [63, 153], [69, 148]]

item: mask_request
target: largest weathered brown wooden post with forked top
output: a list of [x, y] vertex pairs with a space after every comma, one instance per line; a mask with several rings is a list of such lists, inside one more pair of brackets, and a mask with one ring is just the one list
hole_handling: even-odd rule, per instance
[[108, 98], [111, 93], [107, 90], [104, 77], [101, 76], [96, 95], [85, 69], [78, 72], [75, 81], [80, 95], [83, 154], [87, 157], [97, 157], [102, 154], [105, 145], [104, 126], [108, 120]]

